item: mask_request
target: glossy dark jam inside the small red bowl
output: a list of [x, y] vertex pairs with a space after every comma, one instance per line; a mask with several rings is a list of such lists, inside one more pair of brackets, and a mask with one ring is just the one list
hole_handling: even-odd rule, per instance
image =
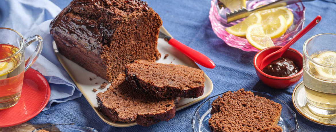
[[288, 77], [298, 73], [299, 68], [292, 60], [280, 57], [266, 65], [262, 72], [276, 77]]

